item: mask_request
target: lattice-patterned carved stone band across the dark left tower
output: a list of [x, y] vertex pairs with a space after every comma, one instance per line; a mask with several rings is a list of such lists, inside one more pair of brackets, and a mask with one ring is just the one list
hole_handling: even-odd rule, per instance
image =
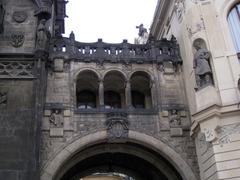
[[33, 62], [0, 62], [0, 78], [33, 78]]

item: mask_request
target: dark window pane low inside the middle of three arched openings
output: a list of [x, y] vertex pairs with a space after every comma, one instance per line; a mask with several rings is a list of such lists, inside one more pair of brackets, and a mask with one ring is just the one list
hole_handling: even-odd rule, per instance
[[121, 108], [121, 96], [114, 91], [104, 92], [104, 104], [106, 109]]

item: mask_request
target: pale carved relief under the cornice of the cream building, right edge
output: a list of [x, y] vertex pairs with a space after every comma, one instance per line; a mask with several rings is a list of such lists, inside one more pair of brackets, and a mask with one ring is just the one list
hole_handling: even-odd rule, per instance
[[231, 142], [230, 136], [233, 134], [240, 134], [240, 123], [231, 124], [223, 127], [217, 127], [218, 143], [223, 146]]

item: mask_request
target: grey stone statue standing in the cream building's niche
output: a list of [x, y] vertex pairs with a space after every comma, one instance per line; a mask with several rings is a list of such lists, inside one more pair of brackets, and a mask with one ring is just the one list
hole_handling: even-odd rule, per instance
[[193, 46], [196, 49], [193, 68], [195, 69], [197, 88], [213, 84], [212, 70], [209, 63], [210, 52], [202, 47], [202, 43], [199, 40], [196, 40]]

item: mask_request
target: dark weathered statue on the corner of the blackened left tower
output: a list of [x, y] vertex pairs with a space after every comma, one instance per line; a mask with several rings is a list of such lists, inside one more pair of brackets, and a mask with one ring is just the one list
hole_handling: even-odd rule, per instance
[[49, 45], [50, 32], [46, 27], [46, 19], [41, 19], [37, 27], [37, 42], [36, 48], [46, 50]]

